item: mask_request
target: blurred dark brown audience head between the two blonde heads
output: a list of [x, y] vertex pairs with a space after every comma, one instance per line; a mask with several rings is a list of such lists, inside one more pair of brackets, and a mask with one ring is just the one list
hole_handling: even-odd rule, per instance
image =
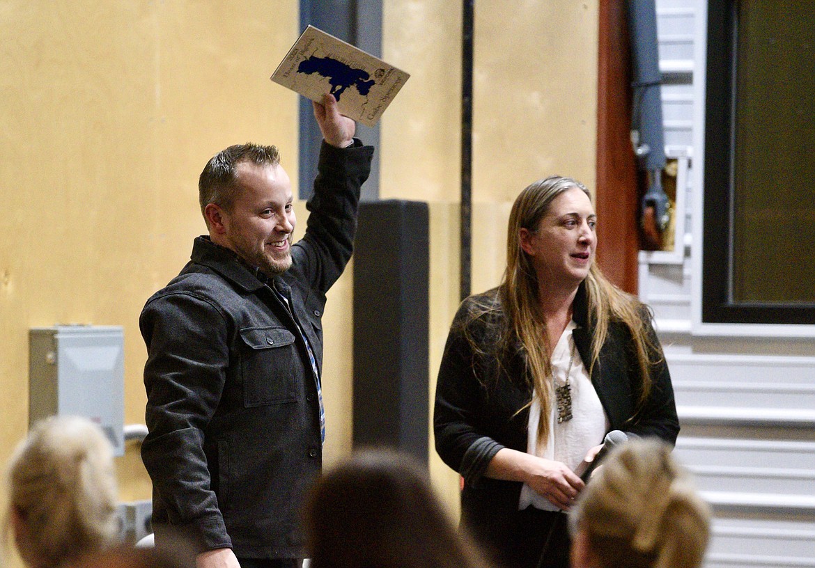
[[311, 568], [484, 566], [434, 495], [425, 469], [389, 450], [357, 453], [306, 504]]

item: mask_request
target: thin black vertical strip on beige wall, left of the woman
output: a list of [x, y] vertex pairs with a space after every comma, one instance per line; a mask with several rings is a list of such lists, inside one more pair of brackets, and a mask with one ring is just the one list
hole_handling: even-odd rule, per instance
[[470, 294], [473, 219], [473, 33], [474, 0], [464, 0], [461, 26], [461, 212], [460, 299]]

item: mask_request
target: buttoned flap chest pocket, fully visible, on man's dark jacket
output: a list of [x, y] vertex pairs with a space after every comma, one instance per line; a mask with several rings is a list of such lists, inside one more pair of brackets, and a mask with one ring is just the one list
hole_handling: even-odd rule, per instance
[[245, 406], [296, 402], [302, 362], [294, 334], [286, 328], [244, 328], [240, 337], [245, 344], [240, 360]]

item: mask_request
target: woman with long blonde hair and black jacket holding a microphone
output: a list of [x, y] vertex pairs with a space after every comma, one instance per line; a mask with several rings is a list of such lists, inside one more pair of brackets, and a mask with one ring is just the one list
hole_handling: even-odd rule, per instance
[[447, 338], [436, 450], [464, 478], [463, 522], [505, 566], [567, 566], [562, 512], [610, 430], [679, 432], [650, 310], [595, 265], [596, 223], [575, 179], [526, 187], [502, 284], [462, 302]]

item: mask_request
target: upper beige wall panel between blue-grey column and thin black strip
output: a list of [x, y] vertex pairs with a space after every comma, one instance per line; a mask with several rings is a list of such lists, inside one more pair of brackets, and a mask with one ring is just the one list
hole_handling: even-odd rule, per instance
[[381, 118], [380, 196], [458, 201], [460, 2], [382, 3], [382, 58], [411, 77]]

